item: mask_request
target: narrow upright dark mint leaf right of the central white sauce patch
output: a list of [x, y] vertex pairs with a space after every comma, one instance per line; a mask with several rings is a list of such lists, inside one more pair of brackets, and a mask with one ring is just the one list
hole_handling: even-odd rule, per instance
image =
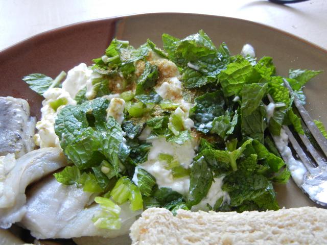
[[189, 197], [186, 205], [190, 208], [206, 197], [212, 182], [213, 174], [204, 157], [193, 162], [190, 174]]

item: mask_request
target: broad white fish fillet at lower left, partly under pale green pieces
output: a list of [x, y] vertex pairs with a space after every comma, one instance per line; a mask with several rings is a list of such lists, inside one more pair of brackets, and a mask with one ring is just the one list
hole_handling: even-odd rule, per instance
[[27, 212], [20, 225], [38, 239], [72, 238], [81, 236], [116, 237], [129, 233], [140, 212], [133, 212], [129, 204], [121, 206], [122, 228], [97, 228], [92, 217], [101, 207], [89, 203], [90, 193], [76, 185], [62, 185], [53, 177], [36, 183], [28, 193]]

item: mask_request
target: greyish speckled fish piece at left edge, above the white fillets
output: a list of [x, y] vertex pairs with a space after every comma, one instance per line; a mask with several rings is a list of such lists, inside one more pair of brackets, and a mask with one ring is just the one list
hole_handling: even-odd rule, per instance
[[0, 156], [14, 153], [19, 158], [34, 150], [35, 123], [26, 100], [0, 97]]

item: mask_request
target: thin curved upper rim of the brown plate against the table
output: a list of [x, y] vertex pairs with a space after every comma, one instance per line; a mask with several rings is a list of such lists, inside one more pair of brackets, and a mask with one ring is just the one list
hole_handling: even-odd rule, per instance
[[327, 49], [325, 49], [324, 47], [321, 47], [309, 40], [306, 40], [302, 37], [296, 36], [292, 33], [289, 33], [287, 31], [275, 28], [275, 27], [271, 27], [268, 26], [267, 24], [264, 23], [259, 23], [259, 22], [255, 22], [252, 20], [247, 20], [247, 19], [241, 19], [241, 18], [236, 18], [236, 17], [229, 17], [229, 16], [222, 16], [222, 15], [212, 15], [212, 14], [199, 14], [199, 13], [186, 13], [186, 12], [155, 12], [155, 13], [136, 13], [136, 14], [127, 14], [127, 15], [117, 15], [117, 16], [111, 16], [111, 17], [104, 17], [104, 18], [96, 18], [96, 19], [90, 19], [90, 20], [84, 20], [84, 21], [78, 21], [78, 22], [74, 22], [71, 24], [66, 24], [64, 26], [61, 27], [57, 27], [54, 29], [50, 29], [47, 31], [43, 31], [37, 34], [34, 34], [28, 38], [25, 38], [23, 40], [20, 40], [18, 42], [15, 42], [13, 44], [11, 44], [8, 47], [5, 47], [3, 50], [0, 50], [0, 56], [6, 55], [6, 53], [9, 53], [13, 50], [15, 50], [16, 48], [19, 48], [21, 45], [25, 45], [26, 43], [29, 42], [33, 42], [33, 41], [38, 41], [39, 39], [45, 38], [46, 36], [50, 35], [50, 34], [57, 34], [63, 31], [66, 31], [67, 29], [74, 29], [74, 28], [80, 28], [83, 27], [86, 24], [90, 24], [90, 23], [95, 23], [95, 22], [100, 22], [100, 21], [106, 21], [106, 20], [112, 20], [112, 21], [119, 21], [119, 20], [123, 20], [126, 18], [130, 18], [130, 17], [146, 17], [146, 16], [153, 16], [153, 15], [175, 15], [175, 16], [204, 16], [204, 17], [211, 17], [211, 18], [223, 18], [223, 19], [229, 19], [229, 20], [234, 20], [234, 21], [240, 21], [240, 22], [247, 22], [249, 24], [253, 24], [254, 26], [259, 26], [261, 28], [265, 28], [268, 29], [270, 31], [273, 32], [278, 32], [282, 35], [288, 36], [290, 38], [296, 39], [297, 41], [300, 41], [306, 45], [310, 45], [313, 48], [316, 48], [317, 50], [323, 52], [325, 55], [327, 55]]

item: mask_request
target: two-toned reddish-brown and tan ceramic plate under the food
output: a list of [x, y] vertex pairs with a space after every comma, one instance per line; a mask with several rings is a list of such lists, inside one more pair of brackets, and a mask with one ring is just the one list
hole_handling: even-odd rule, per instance
[[[129, 40], [133, 46], [147, 38], [161, 44], [161, 34], [185, 37], [203, 29], [217, 45], [226, 42], [233, 54], [243, 44], [254, 46], [256, 56], [273, 57], [277, 74], [287, 76], [289, 68], [327, 71], [327, 51], [288, 33], [262, 24], [221, 16], [157, 13], [114, 17], [72, 24], [41, 33], [0, 52], [0, 96], [27, 99], [32, 113], [39, 116], [42, 97], [30, 90], [21, 78], [40, 72], [56, 77], [92, 58], [100, 57], [113, 37]], [[305, 88], [307, 109], [313, 118], [327, 124], [327, 72]], [[276, 186], [278, 202], [287, 208], [313, 203], [290, 181]]]

